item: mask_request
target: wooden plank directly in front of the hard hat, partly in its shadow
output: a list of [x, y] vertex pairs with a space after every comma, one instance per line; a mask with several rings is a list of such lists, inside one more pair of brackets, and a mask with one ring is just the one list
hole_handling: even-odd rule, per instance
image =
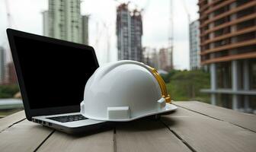
[[137, 120], [116, 130], [117, 151], [190, 151], [160, 121]]

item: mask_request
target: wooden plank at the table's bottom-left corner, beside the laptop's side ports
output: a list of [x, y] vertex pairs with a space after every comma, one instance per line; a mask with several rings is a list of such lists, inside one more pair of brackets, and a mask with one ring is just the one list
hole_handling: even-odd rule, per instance
[[34, 151], [53, 129], [24, 120], [0, 134], [1, 151]]

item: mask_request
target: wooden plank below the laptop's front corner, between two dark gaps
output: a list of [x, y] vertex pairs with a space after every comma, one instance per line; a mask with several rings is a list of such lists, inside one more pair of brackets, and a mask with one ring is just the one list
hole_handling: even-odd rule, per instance
[[114, 151], [113, 137], [113, 130], [79, 136], [55, 131], [37, 151]]

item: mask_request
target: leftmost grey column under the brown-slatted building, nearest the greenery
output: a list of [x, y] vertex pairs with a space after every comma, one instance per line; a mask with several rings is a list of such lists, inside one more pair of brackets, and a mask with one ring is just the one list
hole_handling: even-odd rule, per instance
[[[210, 64], [210, 84], [211, 90], [215, 91], [217, 84], [216, 84], [216, 63]], [[211, 93], [211, 104], [216, 105], [216, 93]]]

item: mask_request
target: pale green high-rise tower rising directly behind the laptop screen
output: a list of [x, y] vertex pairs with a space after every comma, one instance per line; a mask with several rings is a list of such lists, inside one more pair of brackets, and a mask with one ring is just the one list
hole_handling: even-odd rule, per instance
[[82, 16], [80, 0], [49, 0], [43, 11], [43, 35], [88, 44], [88, 16]]

